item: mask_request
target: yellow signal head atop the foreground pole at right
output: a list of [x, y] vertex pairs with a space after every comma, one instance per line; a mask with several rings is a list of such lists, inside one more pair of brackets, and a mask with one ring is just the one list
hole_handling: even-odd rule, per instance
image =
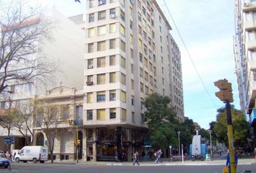
[[232, 86], [226, 79], [221, 79], [214, 82], [214, 85], [220, 89], [219, 92], [216, 92], [216, 97], [221, 99], [223, 102], [234, 102], [232, 94]]

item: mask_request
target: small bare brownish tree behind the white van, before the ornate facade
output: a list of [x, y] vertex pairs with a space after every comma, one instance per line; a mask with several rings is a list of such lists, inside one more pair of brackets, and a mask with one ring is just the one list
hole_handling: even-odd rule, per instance
[[48, 149], [51, 155], [51, 163], [54, 162], [54, 141], [56, 138], [57, 128], [63, 123], [61, 111], [58, 105], [48, 105], [47, 100], [36, 101], [35, 122], [38, 127], [45, 133], [48, 141]]

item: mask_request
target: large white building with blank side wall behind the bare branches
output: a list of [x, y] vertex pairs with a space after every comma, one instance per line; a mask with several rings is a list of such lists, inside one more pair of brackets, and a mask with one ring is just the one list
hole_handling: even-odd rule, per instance
[[[37, 51], [27, 54], [33, 60], [37, 61], [41, 56], [45, 57], [46, 62], [54, 62], [59, 66], [59, 72], [54, 75], [54, 82], [44, 81], [33, 83], [18, 83], [15, 81], [9, 82], [8, 90], [12, 89], [12, 107], [22, 105], [28, 99], [32, 99], [40, 94], [45, 94], [46, 90], [52, 89], [54, 86], [59, 86], [60, 83], [66, 86], [76, 86], [77, 89], [83, 88], [83, 56], [84, 56], [84, 32], [81, 27], [78, 27], [74, 22], [65, 17], [56, 10], [48, 11], [36, 19], [26, 21], [25, 27], [21, 30], [28, 30], [29, 27], [38, 27], [40, 22], [51, 19], [54, 23], [54, 28], [51, 30], [53, 40], [43, 40], [42, 37], [37, 37], [33, 44], [37, 45]], [[1, 32], [2, 34], [2, 32]], [[23, 65], [18, 63], [14, 66], [15, 71], [21, 71]], [[29, 67], [28, 67], [29, 68]], [[1, 71], [2, 72], [2, 71]], [[46, 86], [46, 87], [42, 87]], [[7, 100], [8, 101], [8, 100]], [[1, 100], [1, 109], [8, 109], [8, 102], [5, 104]], [[12, 148], [21, 148], [25, 146], [25, 138], [15, 128], [11, 130], [11, 136], [16, 136], [15, 143]], [[7, 145], [4, 144], [4, 137], [7, 136], [7, 129], [0, 127], [0, 148], [7, 150]]]

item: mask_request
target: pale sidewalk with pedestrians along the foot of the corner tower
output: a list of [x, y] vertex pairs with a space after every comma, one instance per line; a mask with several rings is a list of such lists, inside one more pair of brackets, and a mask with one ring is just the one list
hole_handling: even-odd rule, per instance
[[[140, 161], [140, 166], [160, 166], [160, 165], [225, 165], [226, 164], [226, 156], [214, 156], [211, 161], [191, 161], [186, 160], [184, 163], [182, 161], [168, 161], [168, 158], [162, 159], [162, 164], [156, 164], [154, 161]], [[47, 164], [51, 164], [51, 161], [47, 161]], [[77, 164], [77, 161], [73, 160], [64, 160], [54, 161], [54, 164]], [[79, 160], [78, 164], [80, 165], [108, 165], [108, 166], [132, 166], [132, 161], [123, 161], [123, 162], [115, 162], [115, 161], [84, 161]], [[252, 156], [243, 156], [238, 159], [238, 164], [256, 164], [254, 157]]]

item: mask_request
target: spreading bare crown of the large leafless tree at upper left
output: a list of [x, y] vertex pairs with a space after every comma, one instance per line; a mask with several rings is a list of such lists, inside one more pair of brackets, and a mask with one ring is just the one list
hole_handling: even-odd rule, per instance
[[12, 84], [54, 81], [56, 63], [40, 53], [38, 43], [53, 40], [54, 22], [43, 9], [24, 0], [0, 0], [0, 93]]

